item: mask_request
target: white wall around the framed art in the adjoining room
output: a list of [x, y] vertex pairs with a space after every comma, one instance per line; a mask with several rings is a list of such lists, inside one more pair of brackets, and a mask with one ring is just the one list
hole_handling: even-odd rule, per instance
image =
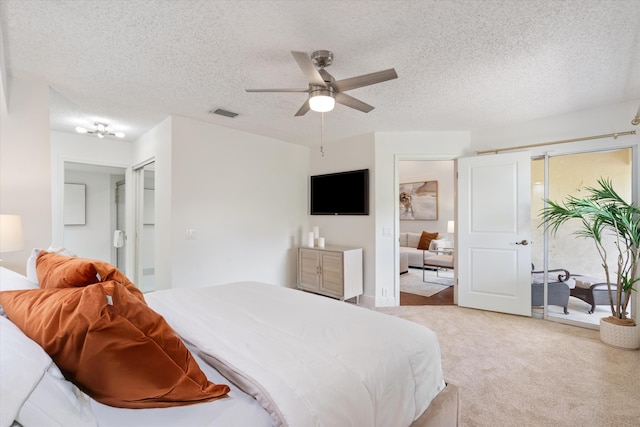
[[438, 232], [447, 237], [447, 223], [453, 221], [455, 208], [455, 175], [453, 160], [402, 160], [399, 162], [400, 183], [438, 181], [438, 219], [400, 220], [400, 231]]

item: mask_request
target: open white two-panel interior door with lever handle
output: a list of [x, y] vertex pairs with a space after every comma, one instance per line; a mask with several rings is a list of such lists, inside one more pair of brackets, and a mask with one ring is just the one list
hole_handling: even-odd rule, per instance
[[458, 159], [458, 305], [531, 316], [531, 156]]

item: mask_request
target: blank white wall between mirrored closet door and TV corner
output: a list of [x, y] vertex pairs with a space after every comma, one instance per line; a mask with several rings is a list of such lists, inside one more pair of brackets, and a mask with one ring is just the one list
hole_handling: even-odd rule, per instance
[[174, 116], [171, 160], [172, 286], [295, 286], [309, 149]]

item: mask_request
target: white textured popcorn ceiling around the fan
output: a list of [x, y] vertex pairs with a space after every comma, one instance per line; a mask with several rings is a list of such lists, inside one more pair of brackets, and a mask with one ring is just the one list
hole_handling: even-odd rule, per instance
[[[51, 128], [94, 121], [132, 140], [169, 114], [304, 145], [292, 50], [333, 51], [336, 80], [395, 68], [337, 105], [325, 138], [477, 130], [640, 99], [640, 1], [0, 2], [9, 76], [51, 87]], [[239, 113], [230, 119], [208, 111]], [[631, 119], [631, 117], [629, 118]]]

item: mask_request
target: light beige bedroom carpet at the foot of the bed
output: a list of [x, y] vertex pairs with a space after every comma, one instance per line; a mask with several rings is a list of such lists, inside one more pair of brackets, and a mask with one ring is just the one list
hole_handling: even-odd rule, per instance
[[457, 306], [377, 310], [436, 332], [463, 426], [640, 426], [640, 351], [598, 331]]

